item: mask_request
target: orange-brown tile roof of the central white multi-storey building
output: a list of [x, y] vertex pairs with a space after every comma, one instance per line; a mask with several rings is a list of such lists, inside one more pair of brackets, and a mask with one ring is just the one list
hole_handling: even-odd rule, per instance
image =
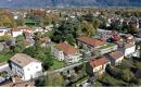
[[66, 42], [61, 42], [56, 45], [56, 49], [62, 50], [65, 53], [75, 53], [78, 52], [78, 50], [76, 48], [74, 48], [73, 46], [66, 44]]

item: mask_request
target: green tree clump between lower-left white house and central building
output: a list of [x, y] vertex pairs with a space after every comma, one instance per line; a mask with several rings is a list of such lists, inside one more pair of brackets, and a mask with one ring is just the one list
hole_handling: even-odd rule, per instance
[[42, 66], [44, 70], [48, 70], [53, 64], [53, 58], [50, 54], [50, 49], [46, 47], [40, 47], [38, 44], [36, 44], [33, 47], [26, 48], [24, 53], [42, 61]]

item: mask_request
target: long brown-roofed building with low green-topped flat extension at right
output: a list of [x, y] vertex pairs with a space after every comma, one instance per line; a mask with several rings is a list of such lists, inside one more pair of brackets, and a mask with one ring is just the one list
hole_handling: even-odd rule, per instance
[[78, 46], [82, 47], [84, 49], [90, 52], [99, 50], [101, 54], [105, 54], [117, 50], [117, 45], [105, 42], [102, 39], [80, 36], [79, 38], [77, 38], [77, 40], [78, 40]]

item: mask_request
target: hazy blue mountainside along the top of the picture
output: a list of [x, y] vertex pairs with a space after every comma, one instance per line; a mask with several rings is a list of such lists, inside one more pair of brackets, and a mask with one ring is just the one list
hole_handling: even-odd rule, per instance
[[0, 0], [0, 8], [141, 7], [141, 0]]

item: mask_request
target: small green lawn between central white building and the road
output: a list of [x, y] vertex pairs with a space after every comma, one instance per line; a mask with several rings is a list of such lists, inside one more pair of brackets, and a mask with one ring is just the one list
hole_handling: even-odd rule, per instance
[[53, 65], [51, 66], [52, 70], [57, 70], [61, 67], [64, 67], [66, 64], [64, 61], [57, 61], [57, 60], [53, 60]]

